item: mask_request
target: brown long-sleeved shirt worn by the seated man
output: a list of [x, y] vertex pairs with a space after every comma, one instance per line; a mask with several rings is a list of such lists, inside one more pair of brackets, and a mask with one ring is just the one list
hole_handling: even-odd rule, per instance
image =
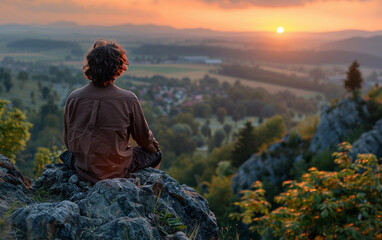
[[156, 152], [138, 98], [114, 84], [92, 83], [73, 91], [66, 100], [64, 141], [77, 157], [80, 177], [93, 183], [125, 177], [132, 163], [130, 135], [147, 151]]

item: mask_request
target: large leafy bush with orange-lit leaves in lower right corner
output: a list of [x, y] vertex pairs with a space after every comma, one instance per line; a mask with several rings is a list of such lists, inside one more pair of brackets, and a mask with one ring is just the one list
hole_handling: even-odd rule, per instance
[[301, 182], [284, 182], [287, 190], [275, 197], [281, 206], [273, 211], [256, 182], [255, 190], [243, 191], [236, 203], [243, 212], [231, 217], [280, 239], [381, 239], [382, 165], [372, 154], [352, 162], [350, 144], [343, 143], [340, 150], [333, 156], [341, 170], [311, 168]]

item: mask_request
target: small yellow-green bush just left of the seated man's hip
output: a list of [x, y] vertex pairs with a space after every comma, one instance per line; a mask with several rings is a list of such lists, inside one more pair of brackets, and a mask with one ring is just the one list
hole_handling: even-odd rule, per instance
[[60, 158], [60, 154], [64, 151], [62, 147], [59, 150], [56, 146], [52, 148], [39, 147], [37, 148], [37, 152], [34, 155], [34, 168], [33, 172], [35, 177], [40, 177], [42, 171], [44, 170], [44, 166], [49, 163], [56, 163]]

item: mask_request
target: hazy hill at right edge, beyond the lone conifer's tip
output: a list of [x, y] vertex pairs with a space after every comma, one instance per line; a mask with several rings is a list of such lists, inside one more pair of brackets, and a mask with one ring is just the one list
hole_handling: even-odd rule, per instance
[[374, 37], [353, 37], [323, 45], [321, 50], [362, 52], [382, 57], [382, 33]]

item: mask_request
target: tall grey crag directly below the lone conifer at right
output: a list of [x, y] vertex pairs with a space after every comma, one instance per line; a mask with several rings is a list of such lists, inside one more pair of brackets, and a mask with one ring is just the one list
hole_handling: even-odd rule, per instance
[[367, 105], [351, 99], [344, 99], [335, 107], [328, 106], [321, 113], [309, 150], [320, 153], [335, 148], [354, 128], [364, 125], [368, 116]]

